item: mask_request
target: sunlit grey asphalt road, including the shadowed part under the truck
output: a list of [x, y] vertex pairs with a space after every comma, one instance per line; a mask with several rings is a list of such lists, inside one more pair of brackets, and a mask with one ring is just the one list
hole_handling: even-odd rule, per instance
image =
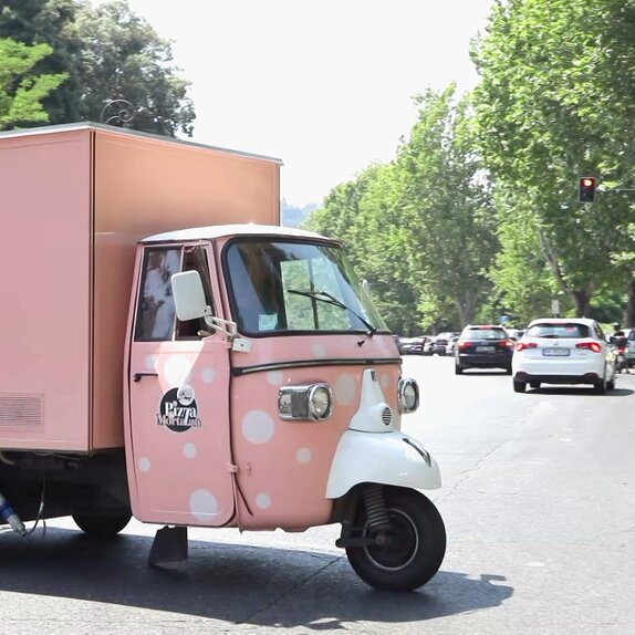
[[3, 634], [635, 633], [635, 375], [516, 394], [497, 371], [455, 376], [405, 357], [421, 407], [404, 430], [438, 460], [439, 573], [409, 594], [368, 589], [334, 546], [302, 534], [190, 530], [189, 560], [147, 566], [156, 527], [95, 542], [71, 520], [0, 532]]

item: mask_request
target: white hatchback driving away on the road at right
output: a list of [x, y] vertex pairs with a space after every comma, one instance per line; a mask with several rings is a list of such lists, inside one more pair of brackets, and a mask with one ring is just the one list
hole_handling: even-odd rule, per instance
[[528, 384], [592, 384], [602, 394], [615, 388], [615, 353], [595, 320], [542, 318], [516, 343], [511, 372], [517, 393]]

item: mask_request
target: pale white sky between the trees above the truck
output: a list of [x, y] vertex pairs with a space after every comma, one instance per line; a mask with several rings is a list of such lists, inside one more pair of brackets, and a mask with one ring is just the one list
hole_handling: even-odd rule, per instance
[[128, 0], [191, 82], [191, 140], [279, 158], [288, 205], [321, 204], [409, 135], [413, 96], [478, 75], [493, 0]]

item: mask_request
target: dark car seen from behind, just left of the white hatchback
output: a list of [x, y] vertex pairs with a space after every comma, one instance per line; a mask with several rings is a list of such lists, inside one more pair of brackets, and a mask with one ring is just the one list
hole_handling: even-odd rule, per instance
[[514, 342], [496, 324], [468, 324], [455, 346], [455, 373], [466, 368], [504, 368], [511, 375]]

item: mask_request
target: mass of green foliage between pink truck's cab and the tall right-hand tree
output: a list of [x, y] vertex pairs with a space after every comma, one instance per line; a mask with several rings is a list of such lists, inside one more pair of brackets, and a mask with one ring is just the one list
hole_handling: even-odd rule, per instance
[[405, 334], [469, 322], [491, 282], [496, 217], [471, 150], [468, 102], [417, 97], [395, 162], [337, 186], [310, 227], [343, 239], [388, 325]]

